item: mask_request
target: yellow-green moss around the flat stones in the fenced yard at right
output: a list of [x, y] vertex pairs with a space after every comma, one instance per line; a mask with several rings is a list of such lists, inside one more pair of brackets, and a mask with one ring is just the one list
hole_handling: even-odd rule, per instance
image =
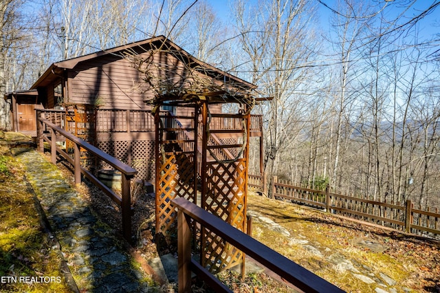
[[[389, 286], [396, 292], [404, 292], [404, 287], [422, 287], [411, 282], [414, 282], [414, 276], [420, 274], [420, 268], [425, 267], [426, 263], [423, 264], [423, 259], [408, 252], [404, 243], [397, 243], [390, 237], [383, 237], [381, 242], [388, 250], [401, 249], [404, 252], [402, 254], [387, 250], [373, 252], [369, 248], [353, 244], [360, 237], [381, 241], [382, 233], [375, 235], [371, 232], [374, 230], [369, 230], [367, 226], [364, 230], [360, 226], [352, 226], [347, 220], [344, 220], [347, 221], [345, 223], [325, 213], [297, 208], [292, 204], [264, 197], [250, 196], [248, 208], [270, 217], [290, 232], [290, 237], [285, 237], [255, 219], [253, 230], [257, 232], [252, 235], [255, 239], [343, 290], [374, 292], [380, 283], [387, 285], [384, 275], [396, 281], [396, 285]], [[318, 249], [320, 254], [314, 254], [307, 246]], [[353, 270], [339, 267], [338, 263], [331, 261], [332, 255], [339, 255], [341, 259], [350, 261]], [[357, 275], [367, 276], [375, 283], [365, 283]]]

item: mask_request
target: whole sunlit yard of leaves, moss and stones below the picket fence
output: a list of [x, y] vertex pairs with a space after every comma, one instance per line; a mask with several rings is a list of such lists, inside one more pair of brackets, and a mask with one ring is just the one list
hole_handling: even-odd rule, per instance
[[248, 210], [254, 238], [347, 292], [440, 292], [438, 241], [258, 195]]

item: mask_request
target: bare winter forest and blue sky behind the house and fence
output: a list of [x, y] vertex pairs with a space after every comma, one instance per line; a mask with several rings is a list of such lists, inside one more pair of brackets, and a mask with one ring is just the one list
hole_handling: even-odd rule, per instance
[[253, 110], [267, 177], [440, 207], [440, 1], [213, 3], [3, 0], [0, 96], [56, 61], [163, 34], [272, 98]]

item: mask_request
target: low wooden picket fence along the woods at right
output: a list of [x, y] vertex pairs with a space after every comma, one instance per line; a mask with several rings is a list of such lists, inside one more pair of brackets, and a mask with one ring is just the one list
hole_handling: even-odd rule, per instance
[[[262, 175], [249, 175], [249, 186], [267, 194], [267, 180]], [[271, 198], [289, 200], [325, 210], [327, 213], [343, 215], [361, 221], [369, 221], [382, 226], [403, 230], [408, 233], [439, 237], [440, 213], [414, 208], [411, 200], [404, 205], [377, 202], [371, 199], [331, 193], [330, 186], [325, 191], [293, 186], [289, 182], [279, 182], [274, 176], [270, 184]]]

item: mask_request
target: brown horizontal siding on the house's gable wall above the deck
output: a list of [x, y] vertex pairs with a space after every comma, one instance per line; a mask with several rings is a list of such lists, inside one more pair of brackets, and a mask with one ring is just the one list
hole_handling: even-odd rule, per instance
[[[67, 102], [99, 105], [100, 109], [151, 109], [145, 101], [157, 94], [152, 87], [157, 91], [187, 89], [194, 78], [212, 83], [213, 79], [201, 72], [194, 71], [192, 77], [188, 77], [186, 65], [168, 52], [157, 52], [153, 58], [151, 52], [131, 54], [133, 56], [126, 58], [106, 54], [79, 63], [69, 70]], [[152, 61], [140, 62], [146, 58]], [[214, 83], [220, 85], [221, 80], [215, 80]], [[203, 86], [200, 90], [203, 90]], [[221, 105], [213, 105], [212, 111], [221, 111]]]

